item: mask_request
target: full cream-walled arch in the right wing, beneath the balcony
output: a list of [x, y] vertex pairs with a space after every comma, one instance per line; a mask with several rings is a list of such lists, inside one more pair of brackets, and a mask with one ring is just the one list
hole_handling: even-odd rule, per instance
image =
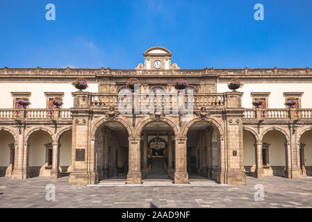
[[269, 130], [262, 139], [262, 162], [265, 176], [285, 176], [287, 138], [279, 130]]

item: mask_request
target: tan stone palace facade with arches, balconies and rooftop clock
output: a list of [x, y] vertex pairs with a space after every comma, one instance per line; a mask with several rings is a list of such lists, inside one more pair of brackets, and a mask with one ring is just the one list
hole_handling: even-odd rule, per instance
[[[69, 185], [92, 185], [124, 175], [128, 184], [140, 184], [155, 160], [161, 160], [163, 171], [176, 184], [188, 183], [194, 175], [228, 185], [245, 185], [248, 172], [258, 178], [311, 176], [312, 108], [302, 108], [302, 101], [304, 96], [311, 98], [312, 92], [285, 89], [281, 100], [295, 96], [297, 106], [273, 109], [268, 107], [270, 87], [265, 92], [259, 87], [250, 94], [250, 103], [263, 99], [263, 108], [243, 106], [244, 99], [247, 101], [244, 87], [239, 92], [218, 92], [219, 85], [226, 85], [231, 78], [240, 78], [247, 87], [311, 85], [309, 67], [180, 69], [171, 64], [172, 53], [165, 48], [153, 47], [143, 56], [144, 64], [135, 69], [0, 69], [3, 84], [66, 83], [69, 87], [75, 78], [83, 77], [98, 89], [70, 92], [71, 108], [49, 107], [49, 96], [63, 96], [64, 92], [44, 92], [44, 109], [1, 108], [1, 175], [26, 179], [67, 174]], [[131, 77], [138, 78], [143, 99], [134, 92], [130, 99], [119, 96]], [[187, 90], [193, 92], [192, 99], [186, 98], [193, 108], [188, 121], [181, 120], [186, 114], [180, 110], [173, 112], [182, 105], [174, 100], [172, 83], [177, 78], [188, 80]], [[11, 92], [13, 106], [21, 96], [31, 98], [31, 92], [19, 91]], [[159, 100], [149, 92], [161, 92], [167, 101], [165, 96]], [[150, 100], [169, 104], [170, 112], [122, 114], [118, 110], [120, 102], [141, 105]]]

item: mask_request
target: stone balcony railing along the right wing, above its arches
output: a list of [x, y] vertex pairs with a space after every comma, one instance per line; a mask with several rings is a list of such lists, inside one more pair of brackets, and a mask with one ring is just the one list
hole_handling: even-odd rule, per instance
[[246, 109], [243, 119], [312, 119], [312, 109]]

